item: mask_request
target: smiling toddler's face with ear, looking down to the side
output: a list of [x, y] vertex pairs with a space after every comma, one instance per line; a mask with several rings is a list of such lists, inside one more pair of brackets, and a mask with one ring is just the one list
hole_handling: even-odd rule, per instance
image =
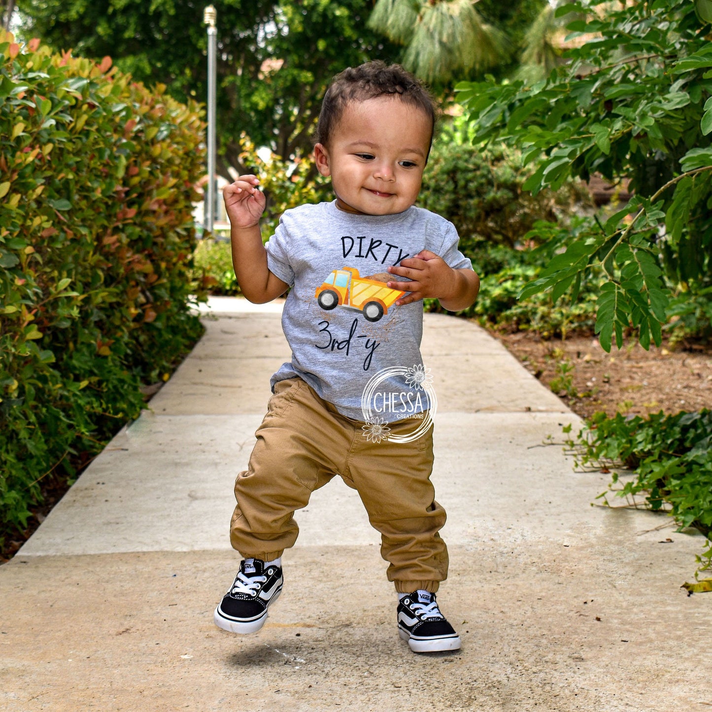
[[392, 215], [420, 191], [432, 125], [425, 112], [399, 98], [350, 102], [329, 140], [314, 155], [331, 176], [336, 204], [361, 215]]

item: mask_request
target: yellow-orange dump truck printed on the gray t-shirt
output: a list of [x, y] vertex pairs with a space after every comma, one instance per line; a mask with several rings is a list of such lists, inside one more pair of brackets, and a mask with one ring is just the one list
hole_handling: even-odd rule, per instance
[[326, 278], [315, 297], [319, 306], [327, 311], [337, 306], [352, 307], [361, 310], [368, 321], [378, 321], [388, 313], [389, 306], [405, 294], [385, 285], [385, 281], [397, 279], [389, 273], [360, 277], [355, 267], [342, 267]]

